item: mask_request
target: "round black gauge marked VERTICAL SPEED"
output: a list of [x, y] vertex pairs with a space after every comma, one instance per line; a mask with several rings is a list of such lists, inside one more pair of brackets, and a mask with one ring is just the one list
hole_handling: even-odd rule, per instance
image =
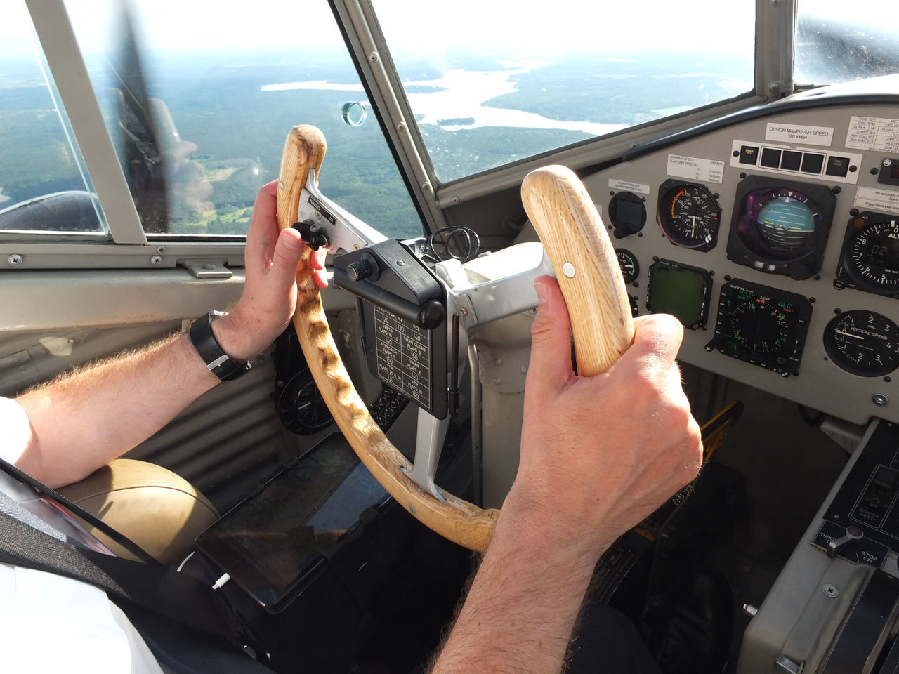
[[853, 375], [882, 377], [899, 367], [899, 325], [873, 311], [846, 311], [827, 324], [824, 350]]

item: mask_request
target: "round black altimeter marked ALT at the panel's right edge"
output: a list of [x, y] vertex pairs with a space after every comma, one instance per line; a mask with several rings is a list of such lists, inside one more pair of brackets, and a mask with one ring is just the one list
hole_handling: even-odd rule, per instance
[[[871, 221], [869, 217], [879, 219]], [[865, 213], [853, 218], [850, 227], [853, 224], [861, 228], [850, 235], [842, 259], [850, 279], [870, 292], [899, 293], [899, 222]]]

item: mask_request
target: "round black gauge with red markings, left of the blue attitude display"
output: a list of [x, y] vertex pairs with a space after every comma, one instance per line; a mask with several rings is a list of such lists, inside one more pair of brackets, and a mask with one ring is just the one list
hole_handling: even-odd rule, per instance
[[721, 224], [721, 207], [702, 185], [667, 181], [659, 198], [659, 226], [672, 244], [711, 250]]

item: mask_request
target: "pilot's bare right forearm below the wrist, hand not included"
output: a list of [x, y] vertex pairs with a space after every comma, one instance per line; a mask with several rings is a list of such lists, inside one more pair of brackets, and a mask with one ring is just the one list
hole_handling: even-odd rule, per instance
[[508, 499], [503, 515], [432, 674], [562, 670], [601, 551], [544, 535]]

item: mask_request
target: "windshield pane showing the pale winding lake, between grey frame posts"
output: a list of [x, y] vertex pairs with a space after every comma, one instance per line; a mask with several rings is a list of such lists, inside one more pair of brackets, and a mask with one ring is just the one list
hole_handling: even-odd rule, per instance
[[754, 4], [373, 0], [441, 182], [752, 90]]

